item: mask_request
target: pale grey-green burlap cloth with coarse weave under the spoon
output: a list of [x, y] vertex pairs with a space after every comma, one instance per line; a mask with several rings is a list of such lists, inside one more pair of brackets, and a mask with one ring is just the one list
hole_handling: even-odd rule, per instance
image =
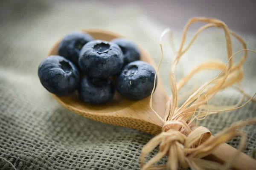
[[[8, 9], [5, 13], [2, 11], [0, 18], [0, 169], [12, 169], [12, 166], [17, 170], [140, 169], [141, 148], [153, 136], [106, 125], [68, 111], [42, 87], [37, 69], [58, 38], [80, 28], [106, 28], [123, 34], [142, 45], [159, 62], [158, 41], [165, 27], [152, 22], [132, 6], [114, 9], [96, 3], [12, 2], [15, 5], [10, 6], [7, 1], [0, 3]], [[178, 45], [180, 31], [174, 34]], [[240, 35], [248, 48], [256, 50], [256, 37]], [[241, 49], [236, 40], [233, 45], [234, 51]], [[167, 38], [163, 48], [165, 58], [160, 75], [170, 94], [168, 71], [173, 54]], [[223, 31], [204, 31], [182, 58], [177, 77], [209, 58], [227, 61]], [[249, 94], [256, 90], [255, 64], [256, 54], [249, 53], [242, 83]], [[189, 85], [199, 85], [202, 79], [212, 75], [216, 73], [196, 76]], [[240, 98], [238, 92], [227, 90], [210, 104], [233, 105]], [[256, 104], [250, 102], [236, 111], [208, 116], [199, 124], [215, 134], [233, 122], [255, 116]], [[251, 155], [256, 147], [256, 128], [250, 125], [244, 129], [248, 134], [244, 152]], [[239, 139], [229, 142], [234, 147], [238, 143]], [[166, 159], [162, 159], [159, 164], [165, 162]]]

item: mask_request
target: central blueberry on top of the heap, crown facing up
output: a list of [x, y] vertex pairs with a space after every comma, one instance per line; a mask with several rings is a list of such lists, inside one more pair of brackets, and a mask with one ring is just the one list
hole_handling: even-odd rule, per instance
[[107, 78], [118, 74], [123, 65], [122, 50], [118, 45], [94, 40], [81, 49], [79, 66], [88, 77]]

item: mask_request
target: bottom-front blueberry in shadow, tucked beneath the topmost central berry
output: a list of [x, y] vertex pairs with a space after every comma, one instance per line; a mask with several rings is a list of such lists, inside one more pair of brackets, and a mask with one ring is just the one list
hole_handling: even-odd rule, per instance
[[114, 91], [114, 85], [109, 78], [84, 77], [79, 86], [79, 96], [81, 99], [92, 105], [101, 105], [111, 101]]

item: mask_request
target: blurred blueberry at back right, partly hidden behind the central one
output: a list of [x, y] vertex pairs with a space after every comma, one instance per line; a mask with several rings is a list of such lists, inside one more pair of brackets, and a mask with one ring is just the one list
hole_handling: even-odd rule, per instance
[[124, 38], [115, 38], [111, 42], [117, 44], [122, 49], [124, 65], [140, 60], [140, 50], [134, 42]]

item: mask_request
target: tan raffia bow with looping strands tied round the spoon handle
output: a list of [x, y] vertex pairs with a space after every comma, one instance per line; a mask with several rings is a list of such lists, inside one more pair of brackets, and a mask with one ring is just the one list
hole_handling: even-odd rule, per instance
[[[198, 29], [198, 31], [195, 33], [195, 36], [192, 38], [191, 42], [186, 48], [183, 48], [185, 39], [186, 39], [186, 31], [188, 27], [195, 22], [205, 22], [206, 25], [202, 26]], [[178, 83], [175, 79], [175, 68], [177, 63], [179, 62], [180, 57], [189, 49], [189, 47], [192, 45], [198, 34], [203, 31], [204, 29], [210, 28], [210, 27], [216, 27], [216, 28], [222, 28], [225, 33], [226, 38], [226, 45], [227, 45], [227, 58], [228, 62], [227, 64], [223, 62], [204, 62], [200, 65], [198, 65], [196, 68], [194, 68], [187, 76], [183, 77]], [[170, 32], [169, 29], [166, 29], [163, 31], [161, 38], [160, 38], [160, 48], [162, 52], [161, 60], [157, 68], [157, 72], [159, 70], [160, 64], [163, 59], [163, 47], [162, 47], [162, 37]], [[171, 34], [170, 34], [171, 35]], [[234, 36], [236, 39], [239, 40], [241, 45], [243, 46], [244, 56], [240, 59], [240, 61], [237, 64], [233, 64], [233, 56], [237, 53], [241, 52], [238, 51], [237, 53], [232, 53], [232, 43], [230, 36]], [[174, 44], [171, 40], [171, 44]], [[174, 51], [175, 48], [173, 47]], [[145, 146], [143, 147], [142, 153], [141, 153], [141, 167], [143, 170], [148, 169], [170, 169], [170, 170], [177, 170], [178, 167], [191, 167], [193, 170], [203, 170], [203, 169], [212, 169], [212, 170], [227, 170], [229, 169], [233, 162], [237, 159], [239, 154], [234, 155], [229, 161], [227, 161], [225, 164], [219, 164], [215, 161], [209, 161], [202, 159], [205, 156], [212, 153], [212, 151], [218, 147], [220, 144], [229, 141], [235, 136], [241, 136], [240, 145], [238, 148], [238, 153], [244, 148], [245, 142], [246, 142], [246, 135], [241, 130], [238, 131], [238, 129], [241, 126], [247, 125], [249, 123], [256, 123], [256, 119], [250, 119], [245, 122], [239, 122], [235, 125], [230, 126], [227, 129], [222, 130], [221, 132], [217, 133], [215, 137], [211, 136], [211, 132], [206, 127], [197, 127], [196, 129], [192, 130], [190, 128], [190, 125], [193, 120], [195, 119], [204, 119], [209, 114], [215, 114], [220, 113], [223, 111], [232, 111], [237, 108], [243, 107], [245, 104], [247, 104], [250, 100], [253, 100], [252, 96], [248, 102], [246, 102], [244, 105], [241, 105], [238, 107], [238, 105], [241, 104], [242, 99], [237, 105], [234, 106], [225, 106], [225, 107], [217, 107], [213, 105], [209, 105], [208, 100], [211, 99], [215, 94], [218, 92], [224, 90], [228, 87], [233, 87], [236, 90], [239, 90], [244, 96], [249, 97], [249, 95], [245, 94], [243, 89], [241, 88], [241, 85], [239, 82], [243, 79], [243, 70], [242, 65], [244, 63], [244, 60], [247, 57], [247, 50], [246, 44], [244, 40], [241, 39], [238, 35], [230, 31], [225, 23], [223, 23], [220, 20], [214, 19], [214, 18], [192, 18], [189, 20], [189, 22], [186, 24], [182, 41], [179, 50], [177, 51], [177, 55], [174, 58], [172, 65], [171, 65], [171, 71], [169, 74], [170, 77], [170, 87], [172, 90], [172, 96], [169, 98], [169, 101], [166, 103], [166, 113], [164, 118], [160, 118], [158, 114], [153, 110], [152, 108], [152, 94], [151, 94], [151, 100], [150, 100], [150, 107], [154, 111], [154, 113], [163, 121], [163, 129], [162, 133], [155, 136], [153, 139], [151, 139]], [[256, 51], [253, 51], [256, 52]], [[195, 91], [192, 91], [192, 94], [189, 94], [190, 96], [186, 100], [186, 102], [183, 103], [180, 107], [178, 107], [178, 95], [177, 92], [180, 90], [180, 88], [183, 87], [183, 85], [186, 84], [186, 82], [197, 72], [203, 71], [203, 70], [212, 70], [212, 69], [218, 69], [221, 70], [221, 72], [218, 74], [217, 77], [212, 79], [211, 81], [208, 81], [204, 83], [200, 88], [198, 88]], [[156, 80], [156, 77], [155, 77]], [[238, 86], [234, 86], [237, 84]], [[155, 87], [154, 87], [155, 88]], [[206, 105], [207, 104], [207, 105]], [[210, 108], [212, 110], [210, 110]], [[202, 140], [204, 139], [204, 140]], [[203, 142], [204, 141], [204, 142]], [[146, 164], [144, 164], [145, 156], [150, 153], [155, 147], [159, 145], [159, 152], [150, 159]], [[166, 165], [160, 165], [155, 166], [154, 163], [159, 161], [163, 156], [168, 156], [168, 162]]]

